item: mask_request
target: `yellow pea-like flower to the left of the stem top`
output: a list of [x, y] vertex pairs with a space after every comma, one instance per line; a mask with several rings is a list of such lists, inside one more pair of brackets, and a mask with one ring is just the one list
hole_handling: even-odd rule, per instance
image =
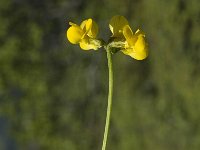
[[66, 36], [72, 44], [79, 44], [83, 50], [101, 47], [101, 42], [96, 38], [98, 34], [98, 26], [92, 19], [84, 20], [80, 26], [69, 22], [71, 27], [67, 30]]

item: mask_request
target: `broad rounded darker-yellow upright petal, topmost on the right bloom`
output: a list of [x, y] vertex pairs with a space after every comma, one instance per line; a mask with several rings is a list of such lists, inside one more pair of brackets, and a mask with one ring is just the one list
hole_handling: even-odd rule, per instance
[[128, 21], [125, 17], [119, 15], [112, 17], [109, 23], [109, 28], [113, 34], [112, 36], [113, 37], [122, 36], [123, 27], [125, 25], [128, 25]]

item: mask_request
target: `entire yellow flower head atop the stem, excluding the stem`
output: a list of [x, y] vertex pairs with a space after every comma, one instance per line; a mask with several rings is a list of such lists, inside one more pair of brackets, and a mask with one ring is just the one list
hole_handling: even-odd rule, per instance
[[148, 44], [145, 34], [139, 29], [133, 33], [127, 19], [123, 16], [114, 16], [110, 20], [109, 28], [112, 32], [106, 43], [97, 39], [98, 26], [92, 19], [84, 20], [81, 25], [69, 23], [67, 38], [72, 44], [79, 44], [83, 50], [97, 50], [102, 46], [117, 49], [136, 60], [143, 60], [148, 56]]

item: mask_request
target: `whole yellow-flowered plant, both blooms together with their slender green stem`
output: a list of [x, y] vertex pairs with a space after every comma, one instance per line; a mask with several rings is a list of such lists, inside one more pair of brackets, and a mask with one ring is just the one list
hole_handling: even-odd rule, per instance
[[136, 60], [143, 60], [148, 56], [148, 44], [145, 41], [145, 34], [137, 29], [134, 33], [123, 16], [114, 16], [109, 23], [112, 35], [108, 42], [98, 39], [98, 25], [90, 19], [84, 20], [80, 25], [69, 22], [70, 27], [66, 32], [67, 39], [72, 44], [79, 44], [83, 50], [98, 50], [103, 47], [107, 52], [109, 69], [109, 90], [106, 123], [103, 137], [102, 150], [106, 149], [108, 130], [110, 124], [110, 114], [112, 108], [113, 95], [113, 68], [112, 54], [119, 51]]

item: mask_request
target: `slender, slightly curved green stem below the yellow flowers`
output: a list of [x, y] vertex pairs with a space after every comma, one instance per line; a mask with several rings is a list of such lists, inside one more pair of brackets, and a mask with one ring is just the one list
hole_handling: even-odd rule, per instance
[[111, 114], [111, 108], [112, 108], [112, 96], [113, 96], [112, 54], [109, 48], [106, 48], [106, 52], [107, 52], [108, 70], [109, 70], [109, 92], [108, 92], [108, 106], [107, 106], [106, 124], [105, 124], [105, 130], [104, 130], [102, 150], [106, 149], [108, 129], [109, 129], [109, 124], [110, 124], [110, 114]]

